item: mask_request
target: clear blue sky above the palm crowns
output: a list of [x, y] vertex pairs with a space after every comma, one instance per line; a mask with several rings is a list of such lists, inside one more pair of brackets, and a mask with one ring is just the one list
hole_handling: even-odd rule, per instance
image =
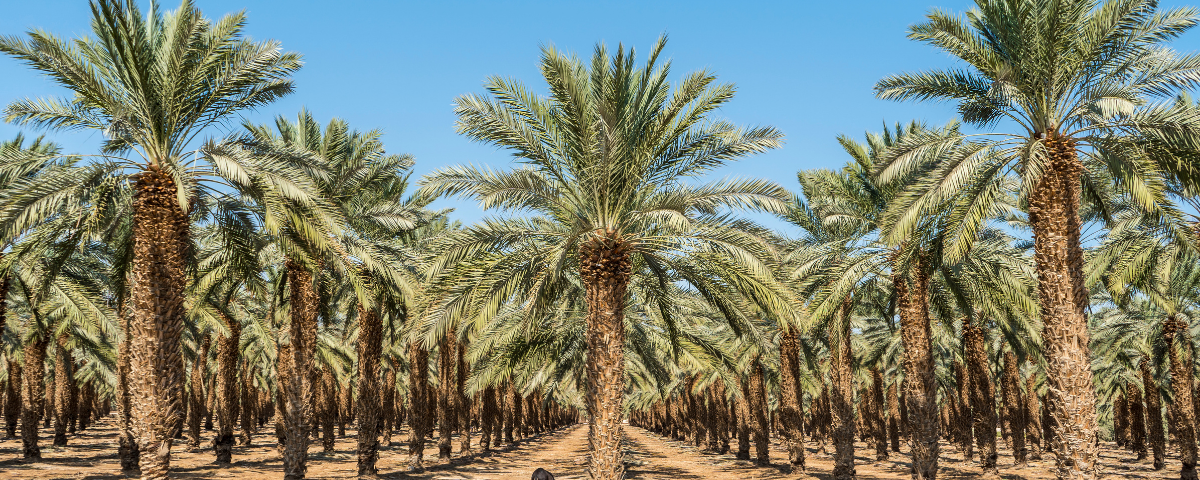
[[[0, 35], [40, 28], [64, 37], [89, 35], [84, 0], [0, 0]], [[492, 74], [541, 90], [539, 46], [590, 55], [596, 42], [644, 53], [668, 34], [666, 55], [676, 76], [708, 68], [734, 83], [737, 97], [718, 115], [739, 125], [773, 125], [787, 136], [776, 151], [750, 157], [718, 176], [768, 178], [797, 188], [796, 172], [846, 161], [838, 133], [862, 137], [883, 121], [943, 124], [948, 104], [875, 100], [871, 88], [888, 73], [952, 65], [952, 59], [905, 37], [934, 7], [961, 12], [965, 0], [893, 1], [266, 1], [198, 0], [214, 18], [246, 10], [247, 31], [300, 52], [296, 92], [247, 116], [268, 121], [307, 107], [324, 122], [346, 119], [380, 128], [389, 151], [412, 154], [416, 175], [460, 163], [511, 166], [511, 157], [454, 132], [451, 102], [482, 91]], [[1187, 5], [1164, 1], [1164, 7]], [[146, 0], [142, 5], [149, 5]], [[176, 1], [164, 7], [175, 8]], [[1200, 49], [1200, 29], [1177, 42]], [[62, 95], [44, 77], [0, 58], [0, 103]], [[234, 126], [236, 124], [233, 124]], [[18, 128], [0, 125], [0, 138]], [[223, 132], [212, 131], [212, 136]], [[94, 151], [100, 133], [54, 133], [72, 152]], [[442, 200], [473, 222], [474, 204]], [[767, 221], [788, 230], [781, 222]]]

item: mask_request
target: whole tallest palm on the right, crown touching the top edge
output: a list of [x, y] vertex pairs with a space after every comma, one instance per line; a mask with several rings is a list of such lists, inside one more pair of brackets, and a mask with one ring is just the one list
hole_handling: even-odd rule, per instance
[[[935, 11], [910, 30], [910, 38], [946, 50], [965, 67], [889, 76], [876, 84], [876, 95], [953, 101], [971, 125], [989, 127], [1003, 120], [1015, 128], [958, 148], [950, 145], [962, 142], [961, 134], [914, 137], [881, 163], [881, 176], [924, 169], [938, 179], [940, 196], [950, 197], [964, 186], [989, 185], [988, 178], [1004, 175], [1006, 167], [1015, 164], [1033, 229], [1056, 436], [1068, 443], [1055, 450], [1057, 475], [1094, 478], [1096, 398], [1079, 205], [1099, 182], [1098, 172], [1085, 169], [1081, 158], [1102, 157], [1100, 168], [1111, 169], [1118, 187], [1150, 214], [1178, 215], [1165, 198], [1165, 184], [1190, 185], [1196, 179], [1183, 158], [1195, 155], [1200, 112], [1147, 102], [1200, 85], [1193, 74], [1200, 59], [1176, 55], [1165, 46], [1195, 25], [1196, 16], [1188, 8], [1158, 12], [1152, 0], [976, 5], [966, 18]], [[938, 156], [929, 168], [918, 167], [926, 162], [922, 154], [931, 150], [952, 154]], [[967, 191], [974, 198], [994, 193]]]

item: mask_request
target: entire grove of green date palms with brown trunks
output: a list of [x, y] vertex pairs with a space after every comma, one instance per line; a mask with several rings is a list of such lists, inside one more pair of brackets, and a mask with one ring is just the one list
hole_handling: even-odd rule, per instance
[[[763, 464], [775, 434], [838, 479], [856, 437], [917, 479], [943, 448], [997, 476], [998, 442], [1063, 479], [1114, 444], [1196, 478], [1200, 56], [1166, 47], [1194, 8], [934, 11], [910, 38], [958, 66], [875, 95], [960, 120], [839, 137], [845, 167], [793, 193], [706, 178], [784, 134], [715, 118], [733, 85], [674, 76], [665, 40], [544, 48], [546, 95], [493, 77], [454, 103], [516, 166], [412, 181], [378, 131], [239, 126], [301, 67], [242, 13], [90, 7], [89, 36], [0, 37], [68, 91], [7, 121], [103, 138], [0, 143], [0, 404], [30, 461], [48, 428], [70, 449], [112, 421], [143, 478], [274, 442], [301, 479], [350, 426], [373, 476], [426, 468], [427, 440], [443, 462], [582, 421], [596, 479], [624, 475], [625, 422]], [[493, 215], [462, 226], [439, 197]], [[407, 464], [377, 466], [395, 442]]]

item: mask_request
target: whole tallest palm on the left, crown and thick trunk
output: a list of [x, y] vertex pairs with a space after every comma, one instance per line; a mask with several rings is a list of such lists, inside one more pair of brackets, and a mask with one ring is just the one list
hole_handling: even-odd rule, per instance
[[[95, 0], [91, 12], [94, 37], [67, 42], [35, 31], [28, 38], [0, 38], [0, 52], [73, 92], [66, 100], [14, 102], [5, 116], [22, 125], [103, 132], [101, 154], [113, 160], [84, 174], [133, 184], [131, 410], [143, 475], [166, 478], [184, 378], [187, 212], [197, 178], [211, 174], [205, 162], [188, 162], [188, 151], [210, 125], [290, 92], [288, 76], [300, 58], [281, 53], [276, 42], [242, 38], [244, 13], [212, 22], [187, 0], [173, 12], [154, 5], [145, 14], [133, 0]], [[126, 152], [137, 160], [116, 157]], [[50, 188], [55, 185], [31, 186], [10, 197], [7, 210], [37, 212], [40, 202], [58, 194]]]

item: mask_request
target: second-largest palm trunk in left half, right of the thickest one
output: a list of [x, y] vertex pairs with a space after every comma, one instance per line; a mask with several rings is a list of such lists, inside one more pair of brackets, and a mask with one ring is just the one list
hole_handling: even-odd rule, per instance
[[312, 426], [312, 355], [317, 342], [317, 293], [312, 272], [286, 262], [292, 307], [288, 326], [289, 372], [283, 395], [283, 478], [304, 479], [308, 469], [308, 437]]

